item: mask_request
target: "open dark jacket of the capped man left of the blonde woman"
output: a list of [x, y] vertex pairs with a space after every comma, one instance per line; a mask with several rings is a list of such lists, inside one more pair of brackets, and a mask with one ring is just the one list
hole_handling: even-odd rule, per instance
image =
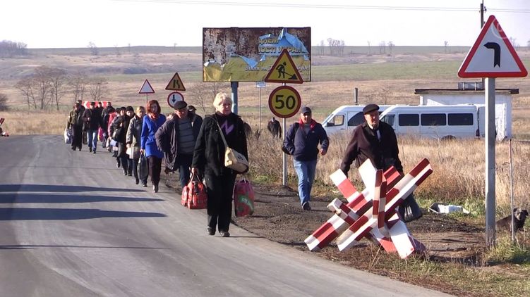
[[[199, 136], [200, 126], [203, 125], [203, 118], [200, 115], [193, 115], [188, 113], [188, 119], [191, 121], [191, 129], [193, 130], [193, 139], [197, 140]], [[176, 149], [179, 141], [179, 125], [178, 118], [174, 116], [173, 120], [168, 120], [160, 126], [155, 133], [155, 140], [157, 141], [158, 149], [164, 152], [164, 160], [166, 168], [175, 171], [179, 168], [179, 160], [176, 158]]]

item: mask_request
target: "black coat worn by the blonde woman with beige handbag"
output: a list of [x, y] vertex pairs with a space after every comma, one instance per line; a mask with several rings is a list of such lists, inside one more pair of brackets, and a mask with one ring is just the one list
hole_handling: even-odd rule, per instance
[[248, 160], [243, 120], [235, 113], [230, 113], [227, 116], [213, 114], [207, 115], [204, 118], [203, 125], [200, 127], [197, 142], [195, 142], [191, 167], [198, 168], [201, 173], [206, 175], [236, 175], [237, 172], [224, 166], [225, 148], [219, 134], [217, 121], [221, 127], [224, 127], [224, 131], [228, 132], [224, 134], [228, 146], [243, 154]]

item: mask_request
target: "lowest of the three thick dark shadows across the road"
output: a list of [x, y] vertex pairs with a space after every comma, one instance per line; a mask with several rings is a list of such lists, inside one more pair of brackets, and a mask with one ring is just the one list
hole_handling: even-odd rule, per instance
[[101, 217], [166, 217], [163, 213], [100, 210], [90, 208], [0, 208], [5, 220], [87, 220]]

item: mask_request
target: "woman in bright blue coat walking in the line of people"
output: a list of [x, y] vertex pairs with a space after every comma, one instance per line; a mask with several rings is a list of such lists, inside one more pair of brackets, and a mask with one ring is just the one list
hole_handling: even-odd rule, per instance
[[[140, 136], [140, 152], [145, 153], [147, 164], [149, 164], [152, 192], [157, 193], [164, 153], [158, 149], [155, 133], [166, 122], [166, 116], [160, 113], [160, 105], [156, 100], [149, 101], [146, 109], [147, 115], [143, 117], [142, 134]], [[147, 184], [143, 184], [143, 187], [147, 187]]]

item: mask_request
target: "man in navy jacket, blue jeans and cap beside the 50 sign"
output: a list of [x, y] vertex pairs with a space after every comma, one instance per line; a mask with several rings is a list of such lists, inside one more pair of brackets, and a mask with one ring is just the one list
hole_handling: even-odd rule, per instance
[[307, 106], [301, 108], [300, 120], [287, 130], [283, 146], [284, 151], [289, 152], [294, 158], [294, 169], [298, 175], [298, 194], [303, 210], [311, 210], [309, 201], [315, 180], [318, 153], [324, 156], [329, 145], [330, 141], [324, 128], [313, 120], [311, 108]]

